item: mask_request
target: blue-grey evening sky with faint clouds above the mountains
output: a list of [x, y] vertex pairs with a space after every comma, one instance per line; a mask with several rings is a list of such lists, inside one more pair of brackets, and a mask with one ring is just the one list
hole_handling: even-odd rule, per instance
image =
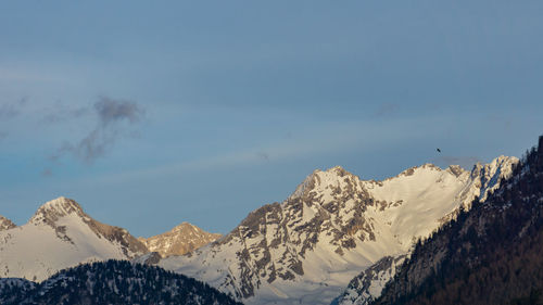
[[[542, 1], [5, 1], [0, 215], [76, 200], [227, 233], [315, 169], [384, 179], [543, 134]], [[441, 153], [437, 152], [440, 148]]]

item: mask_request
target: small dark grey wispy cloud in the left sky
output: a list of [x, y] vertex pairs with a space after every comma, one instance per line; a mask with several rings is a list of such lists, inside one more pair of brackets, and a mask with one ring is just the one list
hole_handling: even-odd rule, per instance
[[[101, 97], [92, 109], [98, 117], [97, 127], [76, 143], [64, 143], [56, 154], [51, 156], [58, 160], [66, 153], [86, 162], [93, 163], [98, 157], [105, 155], [115, 143], [131, 132], [126, 134], [126, 124], [141, 120], [144, 111], [137, 103], [125, 100], [114, 100]], [[84, 113], [83, 109], [80, 110]]]

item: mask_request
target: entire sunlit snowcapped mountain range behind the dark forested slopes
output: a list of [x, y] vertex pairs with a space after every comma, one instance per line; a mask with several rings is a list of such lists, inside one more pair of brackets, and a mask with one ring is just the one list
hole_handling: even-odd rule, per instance
[[59, 198], [23, 226], [0, 218], [0, 277], [41, 282], [78, 264], [131, 259], [193, 277], [245, 304], [367, 304], [417, 241], [475, 199], [484, 201], [517, 163], [500, 156], [470, 171], [425, 164], [381, 181], [339, 166], [315, 170], [283, 202], [253, 211], [224, 237], [181, 224], [136, 239]]

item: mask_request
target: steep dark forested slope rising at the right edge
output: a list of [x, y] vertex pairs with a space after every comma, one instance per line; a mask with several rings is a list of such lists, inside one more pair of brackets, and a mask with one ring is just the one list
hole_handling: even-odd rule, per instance
[[543, 137], [485, 202], [418, 243], [372, 304], [543, 304]]

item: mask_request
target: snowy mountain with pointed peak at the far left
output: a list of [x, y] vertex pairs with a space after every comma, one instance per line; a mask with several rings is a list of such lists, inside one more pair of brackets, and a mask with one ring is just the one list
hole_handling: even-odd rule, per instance
[[27, 224], [0, 231], [0, 277], [41, 281], [60, 269], [147, 253], [128, 231], [92, 219], [75, 201], [47, 202]]

